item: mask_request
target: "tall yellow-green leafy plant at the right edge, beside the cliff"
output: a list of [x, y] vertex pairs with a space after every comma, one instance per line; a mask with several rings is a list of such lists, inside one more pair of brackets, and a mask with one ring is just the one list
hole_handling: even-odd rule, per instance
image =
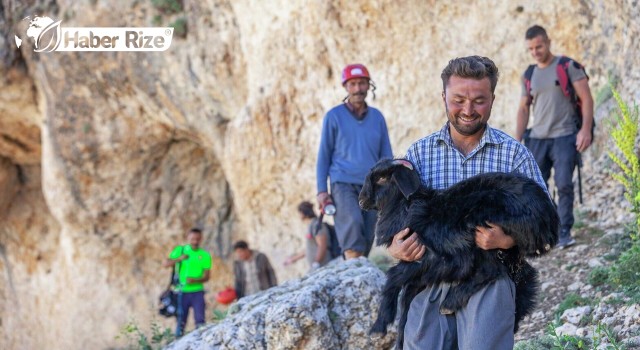
[[612, 173], [614, 179], [625, 187], [625, 197], [631, 203], [631, 212], [636, 215], [634, 239], [640, 232], [640, 159], [637, 153], [636, 139], [638, 138], [638, 105], [630, 109], [615, 90], [612, 83], [611, 91], [618, 103], [619, 113], [616, 115], [616, 126], [611, 128], [611, 137], [621, 155], [610, 151], [609, 158], [620, 168], [620, 173]]

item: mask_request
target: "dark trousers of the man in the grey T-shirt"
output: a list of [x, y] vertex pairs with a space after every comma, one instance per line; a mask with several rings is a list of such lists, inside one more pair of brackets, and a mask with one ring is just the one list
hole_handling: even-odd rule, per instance
[[558, 189], [558, 216], [560, 216], [561, 234], [565, 235], [561, 238], [567, 238], [574, 221], [573, 170], [578, 157], [576, 135], [553, 139], [529, 138], [525, 141], [525, 145], [536, 159], [545, 183], [549, 180], [551, 168], [553, 168], [553, 181]]

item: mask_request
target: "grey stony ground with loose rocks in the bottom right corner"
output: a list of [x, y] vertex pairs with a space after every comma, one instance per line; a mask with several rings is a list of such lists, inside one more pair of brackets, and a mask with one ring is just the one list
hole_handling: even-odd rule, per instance
[[[578, 219], [588, 222], [588, 218]], [[583, 221], [577, 222], [576, 226], [578, 228], [573, 234], [577, 241], [575, 246], [565, 250], [554, 249], [549, 255], [532, 261], [540, 272], [540, 300], [536, 311], [521, 322], [516, 340], [527, 340], [520, 346], [529, 344], [529, 347], [522, 348], [543, 347], [540, 343], [531, 344], [534, 339], [541, 339], [548, 333], [548, 325], [556, 320], [559, 308], [567, 309], [562, 303], [567, 304], [568, 299], [579, 296], [585, 301], [562, 313], [556, 327], [557, 334], [575, 339], [593, 340], [595, 337], [596, 342], [600, 342], [597, 348], [619, 345], [626, 349], [640, 349], [640, 306], [628, 300], [625, 302], [625, 297], [614, 293], [610, 287], [589, 284], [589, 275], [594, 268], [611, 265], [628, 247], [628, 235], [623, 228], [603, 230]], [[600, 330], [598, 324], [601, 325]], [[607, 336], [602, 331], [603, 325], [608, 326], [615, 336]], [[596, 346], [591, 344], [587, 348]]]

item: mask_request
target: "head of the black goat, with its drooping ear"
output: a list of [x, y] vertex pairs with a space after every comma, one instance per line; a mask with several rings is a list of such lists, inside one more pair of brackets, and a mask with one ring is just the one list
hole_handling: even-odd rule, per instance
[[358, 202], [365, 210], [381, 210], [403, 196], [408, 200], [420, 187], [420, 177], [406, 159], [382, 159], [371, 168], [360, 191]]

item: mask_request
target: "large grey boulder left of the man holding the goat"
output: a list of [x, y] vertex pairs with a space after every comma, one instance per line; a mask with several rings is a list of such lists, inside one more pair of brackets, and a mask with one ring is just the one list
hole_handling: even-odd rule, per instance
[[222, 322], [166, 349], [391, 349], [394, 326], [385, 337], [368, 334], [385, 280], [365, 258], [340, 261], [240, 299]]

